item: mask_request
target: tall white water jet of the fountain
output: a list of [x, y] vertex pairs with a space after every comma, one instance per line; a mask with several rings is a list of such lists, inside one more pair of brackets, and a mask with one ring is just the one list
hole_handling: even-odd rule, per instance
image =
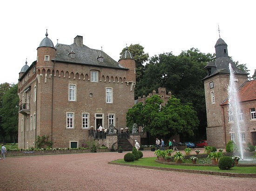
[[229, 71], [230, 71], [230, 78], [229, 78], [229, 87], [228, 87], [228, 94], [229, 94], [229, 115], [233, 115], [233, 125], [232, 130], [235, 131], [235, 133], [238, 136], [238, 143], [239, 143], [239, 149], [240, 149], [240, 156], [241, 159], [243, 159], [243, 145], [242, 145], [242, 134], [241, 130], [243, 130], [243, 123], [240, 119], [240, 102], [239, 97], [237, 96], [237, 87], [235, 82], [235, 75], [234, 70], [231, 67], [231, 64], [229, 63]]

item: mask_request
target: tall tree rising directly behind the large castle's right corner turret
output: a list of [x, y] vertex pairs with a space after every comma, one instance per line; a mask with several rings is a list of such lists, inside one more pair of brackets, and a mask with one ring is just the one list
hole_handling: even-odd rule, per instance
[[[126, 48], [124, 48], [120, 55], [126, 51]], [[144, 52], [144, 47], [139, 45], [139, 44], [131, 44], [128, 47], [128, 51], [133, 55], [135, 59], [135, 67], [136, 67], [136, 81], [140, 81], [141, 76], [143, 75], [144, 72], [144, 63], [148, 61], [148, 53]]]

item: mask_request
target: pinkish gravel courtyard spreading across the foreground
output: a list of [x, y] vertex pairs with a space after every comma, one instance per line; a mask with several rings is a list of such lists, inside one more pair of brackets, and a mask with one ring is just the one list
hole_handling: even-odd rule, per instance
[[[142, 151], [143, 157], [154, 152]], [[0, 160], [0, 191], [253, 191], [255, 178], [117, 166], [124, 153], [79, 153]]]

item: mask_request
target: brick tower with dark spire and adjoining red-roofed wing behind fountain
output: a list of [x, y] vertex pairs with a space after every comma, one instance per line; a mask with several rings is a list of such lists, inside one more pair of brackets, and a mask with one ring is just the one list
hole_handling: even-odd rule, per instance
[[[256, 142], [256, 81], [247, 81], [248, 73], [238, 70], [229, 58], [228, 45], [219, 38], [215, 45], [216, 60], [204, 67], [208, 75], [203, 79], [207, 112], [207, 141], [210, 146], [225, 148], [229, 140], [237, 141], [231, 128], [232, 121], [228, 113], [229, 63], [235, 73], [236, 86], [240, 96], [241, 114], [243, 114], [243, 143]], [[254, 88], [252, 88], [254, 86]], [[248, 88], [251, 87], [251, 88]], [[245, 91], [246, 89], [246, 91]], [[236, 137], [236, 138], [235, 138]]]

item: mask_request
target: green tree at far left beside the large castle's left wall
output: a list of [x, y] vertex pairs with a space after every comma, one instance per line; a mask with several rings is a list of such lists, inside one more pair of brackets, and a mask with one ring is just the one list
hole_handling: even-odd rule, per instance
[[13, 138], [13, 142], [15, 143], [15, 138], [18, 134], [18, 84], [11, 85], [11, 88], [3, 95], [2, 101], [2, 108], [0, 108], [2, 127], [5, 133]]

